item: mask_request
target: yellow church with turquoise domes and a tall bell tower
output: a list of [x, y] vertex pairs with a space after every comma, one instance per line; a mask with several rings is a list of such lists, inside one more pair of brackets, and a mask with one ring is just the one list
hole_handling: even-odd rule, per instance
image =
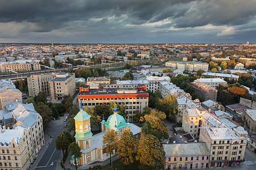
[[[141, 137], [141, 128], [137, 125], [130, 124], [129, 120], [126, 122], [125, 118], [117, 113], [117, 110], [115, 106], [114, 113], [108, 117], [107, 121], [105, 121], [104, 117], [102, 118], [101, 133], [93, 135], [90, 126], [90, 115], [84, 111], [81, 105], [80, 112], [74, 118], [76, 128], [75, 138], [82, 152], [81, 158], [76, 160], [77, 165], [85, 165], [86, 167], [86, 165], [104, 162], [110, 158], [106, 153], [106, 149], [102, 147], [102, 138], [110, 129], [116, 131], [119, 138], [126, 129], [130, 129], [135, 138]], [[115, 155], [114, 150], [113, 153]], [[74, 162], [75, 160], [73, 160]]]

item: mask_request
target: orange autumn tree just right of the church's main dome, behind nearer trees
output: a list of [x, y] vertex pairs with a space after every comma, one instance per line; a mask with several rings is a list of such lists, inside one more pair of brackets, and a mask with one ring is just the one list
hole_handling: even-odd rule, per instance
[[144, 120], [146, 122], [142, 127], [143, 135], [154, 135], [156, 138], [159, 139], [159, 141], [168, 139], [169, 135], [167, 133], [166, 125], [164, 125], [163, 121], [158, 116], [155, 116], [154, 114], [145, 115]]

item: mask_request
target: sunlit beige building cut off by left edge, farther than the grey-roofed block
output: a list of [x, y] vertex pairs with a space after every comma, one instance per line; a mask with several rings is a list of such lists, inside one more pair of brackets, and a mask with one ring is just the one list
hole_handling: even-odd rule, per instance
[[22, 92], [9, 80], [0, 80], [0, 109], [13, 101], [22, 102]]

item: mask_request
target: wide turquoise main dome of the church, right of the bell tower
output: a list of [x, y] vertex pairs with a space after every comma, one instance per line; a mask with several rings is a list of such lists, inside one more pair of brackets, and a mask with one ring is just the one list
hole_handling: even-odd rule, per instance
[[108, 120], [105, 122], [105, 126], [107, 126], [109, 129], [115, 129], [115, 125], [117, 125], [117, 129], [125, 127], [125, 118], [123, 118], [120, 114], [110, 115]]

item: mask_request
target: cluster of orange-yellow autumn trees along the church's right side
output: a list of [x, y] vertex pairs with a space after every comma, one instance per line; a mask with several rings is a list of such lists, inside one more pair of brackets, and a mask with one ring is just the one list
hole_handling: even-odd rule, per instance
[[118, 157], [126, 167], [132, 163], [137, 164], [137, 168], [140, 169], [163, 167], [164, 151], [160, 147], [160, 142], [168, 138], [164, 118], [166, 114], [156, 109], [145, 114], [142, 118], [145, 122], [142, 137], [138, 141], [129, 129], [123, 132], [119, 141], [118, 134], [114, 130], [109, 130], [102, 141], [106, 152], [109, 152], [111, 158], [113, 150], [117, 148]]

